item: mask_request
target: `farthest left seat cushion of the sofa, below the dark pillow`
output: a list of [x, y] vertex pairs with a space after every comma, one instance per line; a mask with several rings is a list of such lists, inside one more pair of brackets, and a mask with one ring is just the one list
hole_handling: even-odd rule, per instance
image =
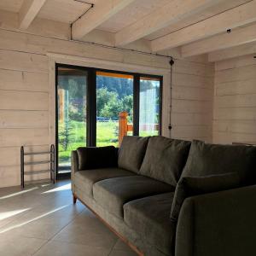
[[75, 172], [74, 183], [79, 186], [87, 195], [92, 196], [92, 186], [94, 183], [111, 177], [134, 176], [134, 172], [129, 172], [120, 168], [103, 168]]

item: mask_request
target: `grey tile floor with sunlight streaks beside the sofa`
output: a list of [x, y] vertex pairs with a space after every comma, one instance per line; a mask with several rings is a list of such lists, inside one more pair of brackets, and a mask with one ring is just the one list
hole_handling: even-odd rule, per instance
[[134, 256], [79, 201], [70, 181], [0, 189], [1, 256]]

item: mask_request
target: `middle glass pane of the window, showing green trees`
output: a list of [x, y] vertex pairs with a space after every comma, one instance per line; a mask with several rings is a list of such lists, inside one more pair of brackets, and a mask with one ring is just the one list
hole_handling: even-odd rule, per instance
[[96, 146], [118, 146], [119, 113], [133, 118], [133, 76], [119, 73], [96, 73]]

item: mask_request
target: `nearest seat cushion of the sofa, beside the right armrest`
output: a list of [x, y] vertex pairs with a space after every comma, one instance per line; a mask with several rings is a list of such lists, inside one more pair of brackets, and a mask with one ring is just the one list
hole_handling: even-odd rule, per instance
[[124, 205], [125, 224], [166, 255], [172, 255], [174, 249], [175, 226], [170, 220], [173, 195], [148, 196]]

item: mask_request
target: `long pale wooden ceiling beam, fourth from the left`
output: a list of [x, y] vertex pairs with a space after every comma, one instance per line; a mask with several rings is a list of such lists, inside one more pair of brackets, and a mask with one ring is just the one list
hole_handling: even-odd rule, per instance
[[154, 52], [162, 49], [171, 49], [214, 36], [237, 26], [247, 25], [256, 21], [255, 9], [256, 0], [241, 4], [234, 9], [214, 15], [162, 38], [157, 38], [151, 42], [151, 48]]

